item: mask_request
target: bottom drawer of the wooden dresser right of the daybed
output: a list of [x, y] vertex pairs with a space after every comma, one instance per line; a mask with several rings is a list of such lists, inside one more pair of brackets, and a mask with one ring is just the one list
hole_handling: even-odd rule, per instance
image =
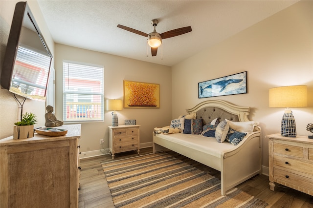
[[[311, 194], [313, 191], [313, 179], [300, 176], [288, 171], [280, 170], [274, 167], [274, 181], [287, 187], [291, 187], [297, 190], [309, 189]], [[303, 191], [308, 193], [307, 191]]]

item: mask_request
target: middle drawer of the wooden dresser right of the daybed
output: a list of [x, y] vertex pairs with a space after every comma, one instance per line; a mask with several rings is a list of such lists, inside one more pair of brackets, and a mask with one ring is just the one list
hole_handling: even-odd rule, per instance
[[285, 168], [295, 170], [301, 173], [307, 173], [307, 174], [312, 175], [312, 178], [313, 178], [313, 164], [307, 163], [306, 161], [299, 161], [299, 160], [294, 160], [292, 158], [274, 155], [273, 165], [285, 167]]

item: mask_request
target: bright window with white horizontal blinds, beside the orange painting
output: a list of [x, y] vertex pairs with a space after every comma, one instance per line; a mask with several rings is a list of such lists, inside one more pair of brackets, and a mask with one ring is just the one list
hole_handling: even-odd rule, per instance
[[104, 68], [63, 62], [63, 121], [103, 121]]

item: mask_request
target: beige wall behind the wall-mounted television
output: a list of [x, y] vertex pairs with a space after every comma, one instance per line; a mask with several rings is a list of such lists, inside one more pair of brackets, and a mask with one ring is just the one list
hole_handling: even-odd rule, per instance
[[[0, 0], [0, 15], [1, 15], [1, 24], [0, 24], [0, 62], [4, 59], [6, 44], [8, 41], [8, 36], [11, 28], [13, 13], [15, 9], [15, 4], [17, 0]], [[28, 6], [43, 34], [45, 41], [48, 44], [49, 49], [52, 54], [54, 54], [54, 42], [51, 38], [50, 32], [45, 25], [45, 21], [41, 10], [39, 9], [37, 1], [27, 1]], [[23, 98], [17, 96], [20, 102]], [[14, 99], [13, 93], [9, 92], [6, 89], [0, 90], [0, 138], [6, 138], [13, 134], [13, 125], [15, 122], [20, 120], [20, 105]], [[32, 101], [27, 99], [23, 105], [23, 113], [33, 112], [37, 115], [39, 120], [36, 126], [45, 125], [45, 102]]]

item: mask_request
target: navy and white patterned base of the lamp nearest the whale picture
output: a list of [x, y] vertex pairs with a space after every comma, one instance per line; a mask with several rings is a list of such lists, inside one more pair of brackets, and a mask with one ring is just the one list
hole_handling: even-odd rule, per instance
[[283, 137], [297, 136], [295, 120], [291, 110], [286, 110], [283, 115], [280, 133]]

